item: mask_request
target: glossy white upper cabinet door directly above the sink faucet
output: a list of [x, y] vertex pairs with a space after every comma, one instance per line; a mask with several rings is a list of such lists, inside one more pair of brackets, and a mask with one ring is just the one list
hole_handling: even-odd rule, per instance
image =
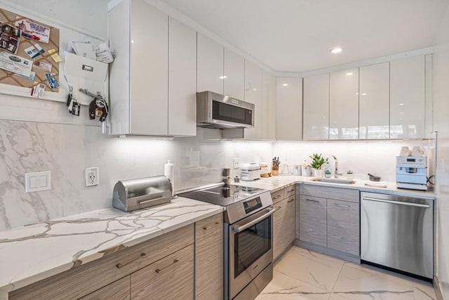
[[329, 74], [329, 139], [358, 138], [358, 69]]

